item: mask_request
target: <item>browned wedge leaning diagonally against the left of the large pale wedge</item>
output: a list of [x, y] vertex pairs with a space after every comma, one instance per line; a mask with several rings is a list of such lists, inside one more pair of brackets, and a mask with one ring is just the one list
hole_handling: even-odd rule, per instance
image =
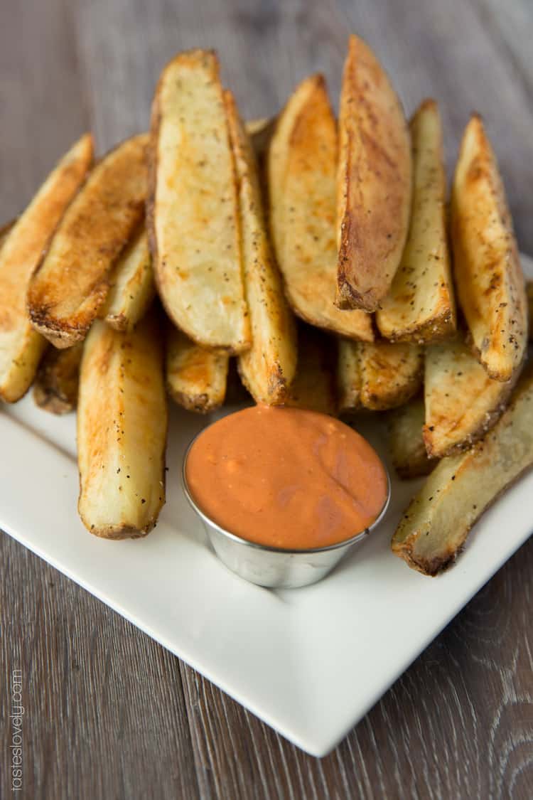
[[56, 347], [86, 337], [109, 273], [141, 223], [148, 141], [147, 134], [134, 136], [98, 162], [30, 279], [32, 325]]

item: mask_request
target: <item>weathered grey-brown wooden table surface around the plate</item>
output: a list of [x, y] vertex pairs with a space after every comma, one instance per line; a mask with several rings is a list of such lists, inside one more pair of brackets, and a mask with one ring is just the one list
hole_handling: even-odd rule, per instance
[[[217, 48], [250, 118], [315, 70], [336, 98], [351, 30], [376, 47], [409, 113], [440, 100], [448, 165], [469, 112], [484, 115], [533, 253], [531, 0], [6, 2], [0, 220], [83, 130], [101, 152], [144, 130], [177, 50]], [[533, 541], [321, 760], [5, 535], [0, 565], [2, 674], [6, 686], [14, 666], [25, 676], [25, 797], [533, 797]], [[6, 704], [2, 691], [2, 798]]]

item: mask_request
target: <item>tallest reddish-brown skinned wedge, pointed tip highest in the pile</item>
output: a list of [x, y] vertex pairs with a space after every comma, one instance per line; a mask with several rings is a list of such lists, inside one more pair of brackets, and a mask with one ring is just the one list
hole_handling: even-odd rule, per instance
[[375, 311], [408, 234], [412, 158], [400, 100], [376, 56], [352, 35], [339, 114], [336, 304]]

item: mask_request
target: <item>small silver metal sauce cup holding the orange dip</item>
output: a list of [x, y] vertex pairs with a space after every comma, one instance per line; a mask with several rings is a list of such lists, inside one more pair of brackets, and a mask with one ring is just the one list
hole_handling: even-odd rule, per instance
[[246, 581], [256, 583], [257, 586], [267, 586], [270, 589], [296, 589], [299, 586], [309, 586], [311, 583], [320, 581], [331, 572], [341, 558], [344, 558], [348, 550], [352, 550], [352, 547], [362, 542], [379, 525], [387, 512], [391, 498], [391, 481], [387, 468], [384, 466], [387, 474], [387, 499], [384, 506], [372, 525], [365, 530], [360, 530], [352, 538], [326, 547], [313, 547], [309, 550], [285, 550], [281, 547], [248, 542], [241, 536], [232, 534], [231, 531], [217, 525], [217, 522], [213, 522], [198, 506], [190, 493], [187, 484], [187, 458], [196, 438], [189, 444], [183, 458], [181, 477], [185, 497], [204, 523], [209, 542], [221, 562], [229, 570], [240, 575], [241, 578], [245, 578]]

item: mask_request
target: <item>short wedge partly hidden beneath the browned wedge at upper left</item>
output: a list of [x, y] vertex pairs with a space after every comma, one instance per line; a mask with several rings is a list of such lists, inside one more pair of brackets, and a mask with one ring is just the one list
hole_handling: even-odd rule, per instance
[[149, 309], [155, 291], [148, 235], [142, 224], [109, 274], [101, 316], [117, 330], [132, 330]]

